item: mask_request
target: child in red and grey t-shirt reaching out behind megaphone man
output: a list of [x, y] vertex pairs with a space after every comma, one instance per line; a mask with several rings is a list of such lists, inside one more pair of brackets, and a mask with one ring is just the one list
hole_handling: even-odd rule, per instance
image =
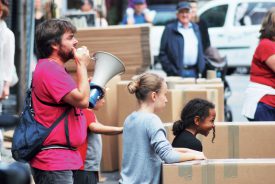
[[93, 110], [99, 110], [104, 103], [103, 94], [93, 109], [83, 110], [87, 120], [88, 136], [85, 143], [78, 148], [83, 160], [83, 166], [74, 172], [74, 184], [97, 184], [97, 182], [99, 182], [102, 157], [102, 140], [100, 134], [116, 135], [123, 131], [123, 127], [105, 126], [97, 121]]

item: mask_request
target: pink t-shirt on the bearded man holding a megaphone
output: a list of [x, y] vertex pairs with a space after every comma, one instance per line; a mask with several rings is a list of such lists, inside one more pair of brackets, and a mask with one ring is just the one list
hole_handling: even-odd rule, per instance
[[[62, 98], [73, 89], [76, 83], [65, 68], [54, 61], [41, 59], [33, 74], [33, 92], [40, 100], [49, 103], [64, 103]], [[32, 95], [35, 119], [44, 126], [51, 124], [68, 108], [52, 107], [41, 103]], [[86, 118], [82, 110], [73, 108], [68, 114], [70, 143], [73, 147], [81, 145], [87, 136]], [[43, 145], [67, 145], [64, 119], [53, 129]], [[82, 166], [78, 151], [66, 149], [49, 149], [39, 152], [30, 162], [40, 170], [75, 170]]]

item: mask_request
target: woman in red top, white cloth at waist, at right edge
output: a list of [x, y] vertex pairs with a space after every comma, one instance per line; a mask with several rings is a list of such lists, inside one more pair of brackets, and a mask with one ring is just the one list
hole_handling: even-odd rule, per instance
[[262, 22], [242, 114], [249, 121], [275, 121], [275, 7]]

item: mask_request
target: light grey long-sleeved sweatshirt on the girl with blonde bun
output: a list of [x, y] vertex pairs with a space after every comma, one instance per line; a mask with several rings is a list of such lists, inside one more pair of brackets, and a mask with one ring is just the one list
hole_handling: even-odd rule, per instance
[[133, 112], [123, 129], [123, 158], [120, 183], [159, 184], [162, 160], [180, 161], [166, 139], [160, 118], [147, 112]]

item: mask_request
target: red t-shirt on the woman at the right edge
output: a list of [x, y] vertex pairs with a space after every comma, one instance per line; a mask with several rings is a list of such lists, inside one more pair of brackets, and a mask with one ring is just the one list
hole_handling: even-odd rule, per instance
[[[253, 56], [250, 80], [275, 88], [275, 73], [266, 65], [266, 60], [275, 55], [275, 42], [269, 39], [262, 39]], [[275, 96], [265, 95], [261, 102], [275, 107]]]

